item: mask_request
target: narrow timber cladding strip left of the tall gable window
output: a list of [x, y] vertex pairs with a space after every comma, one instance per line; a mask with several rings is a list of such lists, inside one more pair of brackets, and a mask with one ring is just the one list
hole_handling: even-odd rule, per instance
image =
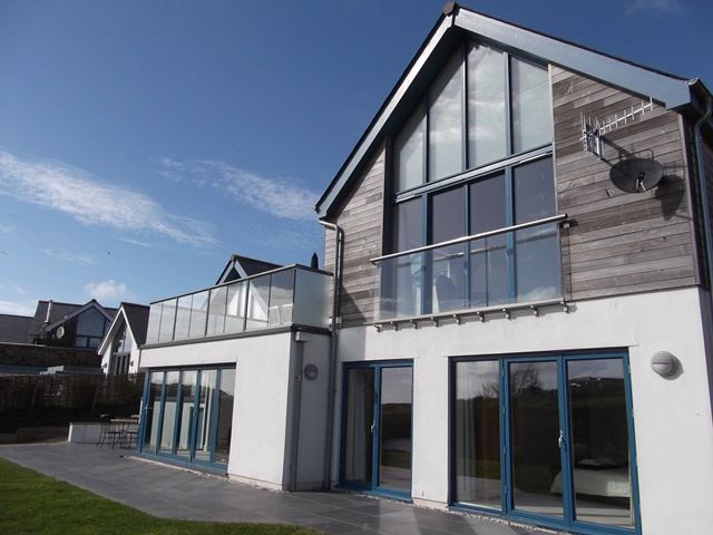
[[[340, 288], [342, 327], [374, 320], [379, 289], [378, 269], [369, 259], [381, 255], [383, 234], [383, 195], [385, 185], [384, 148], [364, 166], [345, 200], [330, 218], [344, 231], [344, 257]], [[334, 235], [324, 235], [324, 266], [334, 265]]]

